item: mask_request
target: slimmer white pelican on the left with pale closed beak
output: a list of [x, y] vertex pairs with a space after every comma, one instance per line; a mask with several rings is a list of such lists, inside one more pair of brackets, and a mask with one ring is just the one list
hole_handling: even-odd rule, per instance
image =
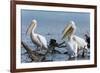
[[33, 19], [27, 30], [27, 34], [30, 35], [31, 40], [37, 46], [37, 49], [47, 49], [48, 47], [46, 38], [40, 34], [35, 33], [36, 26], [37, 21]]

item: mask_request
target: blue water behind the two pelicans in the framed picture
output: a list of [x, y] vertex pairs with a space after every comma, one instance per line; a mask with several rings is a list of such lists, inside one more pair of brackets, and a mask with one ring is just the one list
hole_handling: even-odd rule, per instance
[[[43, 11], [43, 10], [21, 10], [21, 40], [25, 41], [29, 46], [35, 45], [26, 35], [26, 30], [33, 19], [37, 20], [36, 33], [46, 37], [47, 41], [51, 38], [57, 42], [62, 42], [62, 31], [64, 27], [73, 20], [76, 23], [76, 35], [84, 38], [84, 34], [90, 32], [90, 13], [84, 12], [63, 12], [63, 11]], [[22, 49], [22, 53], [25, 51]], [[22, 62], [23, 57], [22, 57]]]

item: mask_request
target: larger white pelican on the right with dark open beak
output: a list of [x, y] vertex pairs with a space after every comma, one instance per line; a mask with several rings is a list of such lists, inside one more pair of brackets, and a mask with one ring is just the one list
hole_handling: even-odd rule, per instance
[[87, 43], [85, 42], [84, 39], [74, 35], [75, 31], [76, 31], [75, 22], [70, 21], [63, 31], [62, 39], [65, 40], [68, 46], [67, 49], [70, 50], [71, 55], [73, 55], [74, 53], [75, 54], [74, 56], [77, 57], [78, 50], [80, 48], [87, 49]]

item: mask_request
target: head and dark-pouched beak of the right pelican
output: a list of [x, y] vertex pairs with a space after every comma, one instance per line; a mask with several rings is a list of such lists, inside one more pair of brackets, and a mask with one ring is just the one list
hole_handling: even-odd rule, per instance
[[66, 38], [68, 36], [70, 37], [71, 35], [73, 35], [75, 33], [75, 30], [76, 30], [75, 22], [70, 21], [63, 31], [62, 39]]

